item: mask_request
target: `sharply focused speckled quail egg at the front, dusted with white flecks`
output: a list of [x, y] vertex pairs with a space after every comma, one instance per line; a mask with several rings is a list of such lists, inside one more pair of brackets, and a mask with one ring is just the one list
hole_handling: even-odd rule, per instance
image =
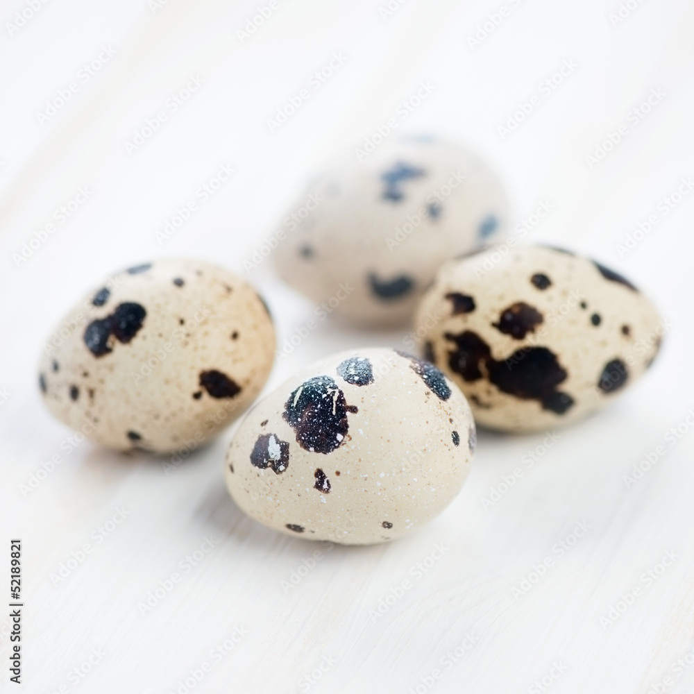
[[255, 405], [226, 457], [243, 511], [310, 540], [384, 542], [461, 488], [475, 424], [432, 364], [387, 348], [332, 355]]

